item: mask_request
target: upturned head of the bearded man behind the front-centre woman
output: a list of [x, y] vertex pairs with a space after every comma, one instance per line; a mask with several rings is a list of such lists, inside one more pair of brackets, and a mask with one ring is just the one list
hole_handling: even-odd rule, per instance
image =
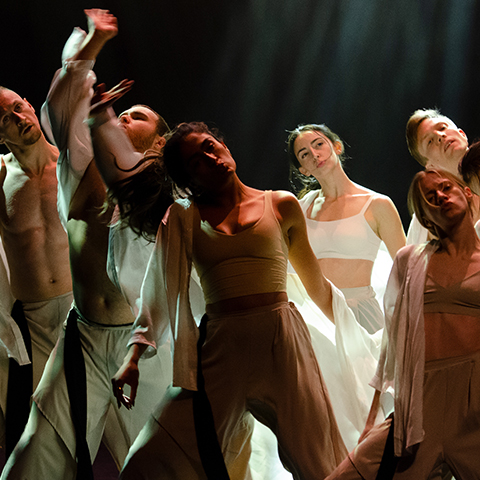
[[161, 150], [165, 144], [164, 136], [170, 131], [163, 117], [147, 105], [134, 105], [125, 110], [119, 115], [118, 124], [140, 153]]

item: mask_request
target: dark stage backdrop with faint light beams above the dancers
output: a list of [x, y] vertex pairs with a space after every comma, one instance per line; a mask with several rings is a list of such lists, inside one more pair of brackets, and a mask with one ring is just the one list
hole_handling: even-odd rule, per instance
[[171, 125], [214, 123], [257, 188], [288, 189], [286, 130], [325, 122], [348, 144], [348, 175], [389, 195], [407, 225], [419, 169], [404, 140], [409, 115], [436, 106], [470, 140], [478, 134], [474, 0], [4, 1], [0, 85], [38, 112], [91, 7], [119, 23], [99, 81], [136, 82], [117, 112], [146, 103]]

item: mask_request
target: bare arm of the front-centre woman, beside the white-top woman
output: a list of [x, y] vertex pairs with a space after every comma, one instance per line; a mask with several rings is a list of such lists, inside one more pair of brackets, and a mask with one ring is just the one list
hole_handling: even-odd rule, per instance
[[310, 298], [333, 322], [332, 289], [308, 241], [305, 217], [297, 199], [275, 192], [275, 206], [289, 242], [288, 256]]

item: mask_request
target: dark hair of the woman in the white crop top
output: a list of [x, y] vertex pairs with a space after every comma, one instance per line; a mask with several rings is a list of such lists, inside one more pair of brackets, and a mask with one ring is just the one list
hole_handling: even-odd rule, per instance
[[[295, 140], [305, 132], [318, 132], [327, 137], [332, 144], [340, 142], [342, 145], [342, 153], [338, 157], [340, 159], [340, 163], [343, 165], [345, 160], [348, 158], [345, 154], [345, 146], [342, 139], [336, 133], [332, 132], [332, 130], [330, 130], [324, 123], [307, 123], [304, 125], [298, 125], [298, 127], [294, 130], [288, 131], [289, 135], [287, 138], [287, 154], [290, 165], [289, 180], [290, 185], [292, 186], [292, 189], [298, 198], [304, 197], [311, 190], [318, 190], [322, 188], [319, 181], [315, 177], [307, 177], [306, 175], [300, 173], [301, 165], [297, 156], [295, 155], [294, 145]], [[300, 188], [298, 186], [299, 184]]]

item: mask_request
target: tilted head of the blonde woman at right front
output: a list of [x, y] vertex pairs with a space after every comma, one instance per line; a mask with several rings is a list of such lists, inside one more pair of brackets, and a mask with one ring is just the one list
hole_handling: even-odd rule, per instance
[[469, 187], [447, 170], [427, 169], [413, 178], [408, 206], [420, 224], [441, 238], [465, 214], [471, 215], [473, 194]]

